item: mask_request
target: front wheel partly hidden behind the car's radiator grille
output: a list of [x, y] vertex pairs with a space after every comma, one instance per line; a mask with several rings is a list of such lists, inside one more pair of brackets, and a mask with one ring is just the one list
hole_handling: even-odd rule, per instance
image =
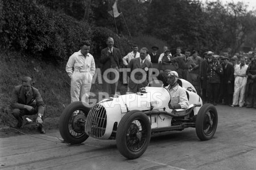
[[89, 137], [84, 129], [89, 111], [90, 107], [81, 101], [75, 101], [64, 109], [60, 116], [59, 130], [65, 142], [78, 144]]

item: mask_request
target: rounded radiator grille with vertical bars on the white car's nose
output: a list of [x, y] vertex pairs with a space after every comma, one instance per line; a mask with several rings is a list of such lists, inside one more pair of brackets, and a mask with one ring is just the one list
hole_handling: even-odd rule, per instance
[[106, 118], [105, 108], [100, 104], [94, 105], [85, 122], [86, 134], [93, 138], [101, 138], [106, 131]]

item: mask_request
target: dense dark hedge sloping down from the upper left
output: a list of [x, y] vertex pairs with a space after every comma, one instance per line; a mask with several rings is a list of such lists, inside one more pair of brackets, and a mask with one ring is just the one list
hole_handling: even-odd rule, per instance
[[0, 0], [1, 48], [18, 50], [35, 57], [63, 61], [79, 50], [81, 40], [92, 41], [92, 53], [106, 46], [108, 36], [123, 53], [130, 50], [125, 37], [119, 37], [104, 27], [94, 27], [62, 12], [49, 10], [32, 0]]

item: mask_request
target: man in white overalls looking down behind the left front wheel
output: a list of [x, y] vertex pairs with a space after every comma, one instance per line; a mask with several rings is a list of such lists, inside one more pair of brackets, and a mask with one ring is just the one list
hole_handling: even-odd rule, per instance
[[89, 53], [90, 43], [81, 42], [79, 52], [75, 52], [68, 59], [66, 71], [71, 78], [71, 103], [82, 101], [89, 104], [90, 87], [95, 73], [95, 62]]

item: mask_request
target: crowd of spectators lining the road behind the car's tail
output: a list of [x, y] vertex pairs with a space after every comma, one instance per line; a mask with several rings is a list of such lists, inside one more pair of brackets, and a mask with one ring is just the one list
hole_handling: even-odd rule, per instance
[[179, 78], [193, 84], [205, 103], [256, 108], [256, 54], [231, 57], [208, 51], [200, 57], [197, 50], [186, 49], [183, 54], [177, 48], [174, 55], [167, 46], [163, 46], [161, 54], [158, 50], [152, 46], [149, 53], [152, 66], [160, 72], [176, 71]]

